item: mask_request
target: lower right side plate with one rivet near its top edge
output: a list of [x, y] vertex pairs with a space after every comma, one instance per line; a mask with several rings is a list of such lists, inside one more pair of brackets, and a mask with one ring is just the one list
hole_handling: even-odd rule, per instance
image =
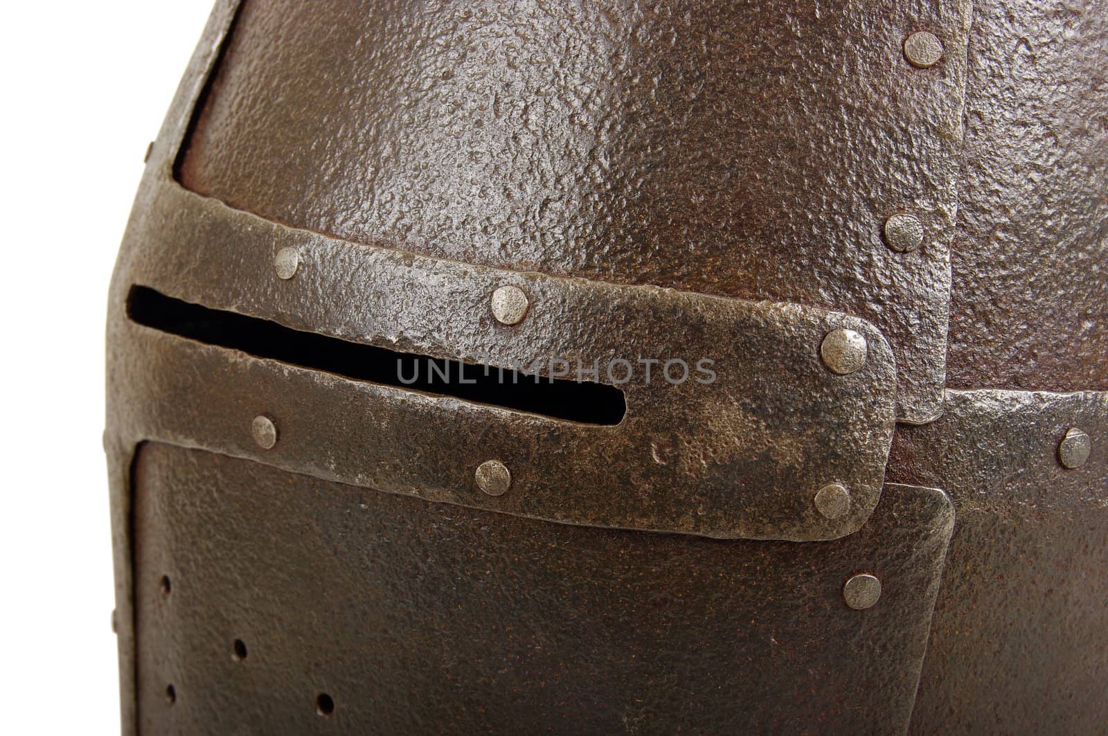
[[[1067, 469], [1074, 427], [1092, 450]], [[957, 515], [912, 730], [1105, 733], [1108, 393], [950, 391], [890, 462], [942, 483]]]

